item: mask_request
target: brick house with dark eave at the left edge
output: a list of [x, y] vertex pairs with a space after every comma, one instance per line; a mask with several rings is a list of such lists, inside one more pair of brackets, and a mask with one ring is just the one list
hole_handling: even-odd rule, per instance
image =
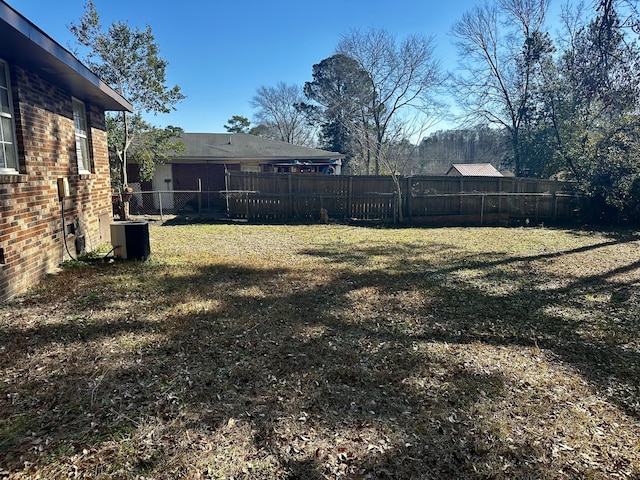
[[109, 241], [106, 110], [132, 107], [0, 2], [0, 301]]

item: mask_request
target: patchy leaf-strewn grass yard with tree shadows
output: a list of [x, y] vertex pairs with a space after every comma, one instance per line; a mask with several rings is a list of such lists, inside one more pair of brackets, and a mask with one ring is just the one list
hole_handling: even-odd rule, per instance
[[0, 478], [640, 478], [640, 240], [151, 227], [0, 305]]

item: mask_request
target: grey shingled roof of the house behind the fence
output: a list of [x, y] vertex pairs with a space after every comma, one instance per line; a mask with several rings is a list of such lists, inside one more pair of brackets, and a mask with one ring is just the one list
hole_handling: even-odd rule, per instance
[[185, 151], [172, 162], [207, 160], [338, 160], [344, 155], [244, 133], [183, 133]]

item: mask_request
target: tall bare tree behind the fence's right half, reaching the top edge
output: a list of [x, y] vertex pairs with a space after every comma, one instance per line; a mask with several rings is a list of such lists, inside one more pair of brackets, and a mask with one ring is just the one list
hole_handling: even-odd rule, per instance
[[542, 32], [549, 0], [485, 2], [453, 25], [460, 62], [457, 98], [473, 123], [489, 122], [510, 133], [513, 163], [522, 173], [521, 133], [533, 108], [535, 79], [549, 37]]

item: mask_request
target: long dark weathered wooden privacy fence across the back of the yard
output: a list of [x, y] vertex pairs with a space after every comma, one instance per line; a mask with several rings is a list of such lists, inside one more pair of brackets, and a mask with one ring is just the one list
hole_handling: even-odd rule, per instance
[[512, 177], [227, 173], [227, 213], [248, 220], [334, 219], [496, 223], [567, 222], [584, 210], [570, 183]]

